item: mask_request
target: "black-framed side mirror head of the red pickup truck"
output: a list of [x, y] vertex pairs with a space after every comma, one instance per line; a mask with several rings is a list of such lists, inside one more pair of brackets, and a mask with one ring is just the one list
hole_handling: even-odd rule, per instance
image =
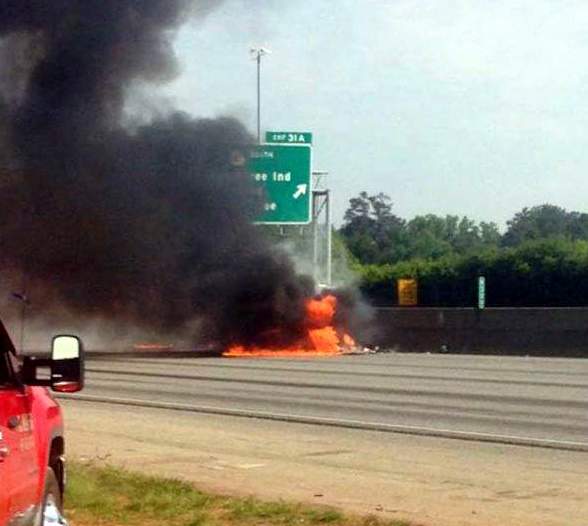
[[51, 344], [51, 389], [75, 393], [84, 387], [84, 348], [77, 336], [60, 335]]

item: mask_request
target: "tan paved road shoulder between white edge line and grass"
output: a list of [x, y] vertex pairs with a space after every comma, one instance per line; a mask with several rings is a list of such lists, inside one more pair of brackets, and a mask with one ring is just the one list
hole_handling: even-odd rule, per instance
[[68, 454], [431, 526], [584, 526], [588, 454], [64, 401]]

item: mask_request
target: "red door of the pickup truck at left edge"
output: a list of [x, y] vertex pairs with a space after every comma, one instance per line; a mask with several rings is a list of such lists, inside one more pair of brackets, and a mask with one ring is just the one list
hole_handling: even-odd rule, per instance
[[[5, 513], [7, 520], [26, 524], [37, 504], [39, 480], [29, 387], [0, 386], [0, 433], [0, 517]], [[6, 522], [0, 520], [0, 526]]]

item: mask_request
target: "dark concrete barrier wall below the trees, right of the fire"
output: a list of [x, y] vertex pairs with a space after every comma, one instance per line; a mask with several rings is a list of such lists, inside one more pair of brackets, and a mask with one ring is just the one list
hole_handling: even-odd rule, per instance
[[364, 340], [398, 351], [588, 358], [588, 308], [381, 307]]

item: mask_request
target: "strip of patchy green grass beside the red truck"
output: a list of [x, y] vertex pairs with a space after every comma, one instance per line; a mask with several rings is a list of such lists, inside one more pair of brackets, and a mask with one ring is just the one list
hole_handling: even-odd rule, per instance
[[326, 506], [204, 493], [181, 480], [112, 466], [69, 466], [66, 515], [72, 526], [410, 526]]

